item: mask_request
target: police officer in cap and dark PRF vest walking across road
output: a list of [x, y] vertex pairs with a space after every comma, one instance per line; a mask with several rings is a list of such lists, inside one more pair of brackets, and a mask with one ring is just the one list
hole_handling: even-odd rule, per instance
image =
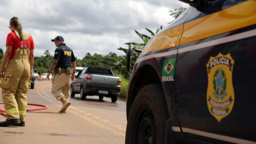
[[[72, 49], [66, 46], [62, 36], [56, 36], [51, 40], [55, 42], [56, 49], [54, 53], [54, 60], [52, 61], [51, 67], [47, 73], [47, 79], [52, 70], [54, 70], [54, 78], [52, 79], [52, 90], [51, 93], [60, 100], [63, 104], [60, 109], [60, 113], [66, 111], [70, 102], [70, 79], [75, 78], [76, 58]], [[72, 67], [71, 67], [72, 63]]]

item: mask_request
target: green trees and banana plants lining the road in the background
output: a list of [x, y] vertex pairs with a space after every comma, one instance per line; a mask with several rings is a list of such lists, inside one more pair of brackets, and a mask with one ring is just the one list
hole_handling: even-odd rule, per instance
[[[170, 11], [170, 16], [173, 16], [174, 18], [177, 18], [186, 8], [180, 7], [176, 8], [173, 11]], [[171, 22], [170, 22], [171, 23]], [[118, 48], [119, 50], [122, 50], [124, 52], [123, 56], [117, 56], [115, 53], [110, 52], [108, 55], [100, 55], [100, 54], [91, 54], [87, 53], [82, 59], [77, 59], [77, 66], [78, 67], [86, 67], [86, 66], [100, 66], [100, 67], [107, 67], [112, 68], [115, 75], [118, 75], [122, 78], [121, 83], [121, 92], [120, 92], [120, 98], [126, 97], [127, 87], [129, 84], [129, 73], [126, 72], [126, 55], [128, 53], [128, 49], [130, 47], [135, 47], [137, 49], [144, 49], [147, 42], [153, 37], [155, 34], [157, 34], [161, 29], [158, 28], [156, 32], [152, 32], [152, 30], [145, 28], [151, 36], [147, 36], [145, 34], [139, 33], [137, 30], [134, 30], [135, 33], [142, 39], [143, 43], [134, 43], [129, 42], [125, 43], [128, 45], [128, 48]], [[3, 59], [3, 50], [0, 48], [0, 62], [2, 63]], [[133, 52], [131, 55], [131, 67], [135, 64], [135, 61], [137, 57], [139, 56], [138, 53]], [[51, 62], [53, 60], [53, 56], [49, 52], [49, 50], [46, 50], [43, 56], [35, 57], [34, 58], [34, 69], [41, 70], [42, 73], [47, 73], [48, 69], [51, 66]], [[53, 75], [53, 73], [52, 73]]]

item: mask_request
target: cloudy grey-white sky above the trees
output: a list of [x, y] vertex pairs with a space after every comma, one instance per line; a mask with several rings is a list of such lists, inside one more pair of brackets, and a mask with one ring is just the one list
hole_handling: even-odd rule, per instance
[[124, 43], [142, 43], [134, 29], [150, 36], [145, 27], [153, 32], [166, 27], [173, 20], [169, 11], [181, 6], [188, 4], [178, 0], [2, 0], [0, 48], [5, 51], [9, 20], [16, 16], [34, 39], [35, 56], [46, 50], [53, 55], [56, 47], [51, 39], [57, 35], [79, 59], [88, 52], [124, 55], [117, 50], [128, 48]]

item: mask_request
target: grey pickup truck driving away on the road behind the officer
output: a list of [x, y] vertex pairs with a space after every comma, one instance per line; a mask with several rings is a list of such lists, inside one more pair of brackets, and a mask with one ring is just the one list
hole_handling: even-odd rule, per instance
[[112, 102], [116, 102], [121, 90], [121, 78], [114, 76], [109, 68], [85, 67], [76, 79], [71, 82], [70, 95], [80, 94], [81, 99], [86, 96], [111, 97]]

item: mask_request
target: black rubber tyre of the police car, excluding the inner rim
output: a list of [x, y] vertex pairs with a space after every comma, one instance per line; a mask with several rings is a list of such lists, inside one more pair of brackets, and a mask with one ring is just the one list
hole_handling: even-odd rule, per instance
[[[147, 119], [145, 111], [150, 109], [154, 117], [155, 142], [165, 143], [166, 121], [168, 117], [164, 92], [159, 84], [144, 86], [135, 97], [127, 119], [125, 143], [137, 143], [137, 133], [143, 119]], [[152, 118], [151, 118], [152, 119]], [[154, 132], [155, 131], [155, 132]]]

